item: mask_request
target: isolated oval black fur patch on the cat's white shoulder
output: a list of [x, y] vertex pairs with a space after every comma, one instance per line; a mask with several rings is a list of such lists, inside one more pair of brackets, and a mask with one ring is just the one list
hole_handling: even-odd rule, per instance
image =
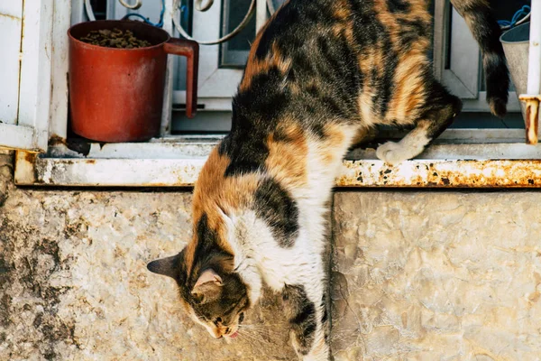
[[287, 190], [275, 180], [264, 180], [255, 192], [255, 209], [279, 245], [289, 248], [298, 235], [298, 208]]

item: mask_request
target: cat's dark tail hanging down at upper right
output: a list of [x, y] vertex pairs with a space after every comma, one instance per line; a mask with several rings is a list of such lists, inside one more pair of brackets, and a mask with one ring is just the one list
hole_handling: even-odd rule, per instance
[[495, 116], [507, 113], [509, 71], [500, 42], [500, 25], [491, 13], [489, 0], [451, 0], [479, 44], [487, 83], [487, 102]]

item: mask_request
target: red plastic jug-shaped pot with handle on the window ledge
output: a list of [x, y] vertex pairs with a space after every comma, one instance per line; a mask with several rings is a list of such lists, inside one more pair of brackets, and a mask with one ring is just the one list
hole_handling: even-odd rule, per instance
[[[79, 39], [95, 30], [129, 30], [151, 43], [105, 48]], [[74, 133], [98, 142], [148, 140], [160, 131], [167, 54], [188, 58], [188, 117], [197, 110], [198, 44], [141, 22], [78, 23], [69, 31], [69, 106]]]

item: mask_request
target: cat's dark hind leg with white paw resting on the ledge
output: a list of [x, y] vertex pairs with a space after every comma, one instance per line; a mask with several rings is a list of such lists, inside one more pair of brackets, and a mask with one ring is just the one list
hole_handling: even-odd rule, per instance
[[451, 125], [462, 109], [460, 99], [450, 94], [436, 80], [429, 87], [426, 98], [426, 104], [414, 123], [415, 128], [398, 143], [387, 142], [378, 147], [376, 155], [382, 161], [395, 165], [416, 157]]

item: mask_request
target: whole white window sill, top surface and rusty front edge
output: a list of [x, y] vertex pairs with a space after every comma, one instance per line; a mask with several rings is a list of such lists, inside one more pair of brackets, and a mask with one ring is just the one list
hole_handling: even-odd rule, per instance
[[[523, 132], [523, 131], [522, 131]], [[521, 133], [522, 133], [521, 132]], [[469, 132], [472, 134], [472, 132]], [[150, 143], [90, 144], [87, 154], [65, 145], [45, 156], [18, 152], [15, 183], [68, 187], [192, 187], [219, 137], [179, 137]], [[541, 188], [541, 145], [445, 143], [417, 159], [389, 166], [373, 149], [349, 153], [336, 187]], [[486, 134], [483, 138], [487, 141]]]

